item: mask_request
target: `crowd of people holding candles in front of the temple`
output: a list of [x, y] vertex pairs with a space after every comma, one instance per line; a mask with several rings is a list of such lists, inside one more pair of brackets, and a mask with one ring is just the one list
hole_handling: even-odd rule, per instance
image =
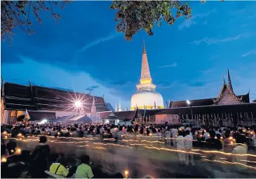
[[[50, 146], [46, 144], [47, 136], [55, 137], [97, 137], [114, 138], [116, 141], [127, 139], [139, 140], [140, 137], [155, 138], [163, 140], [166, 148], [176, 148], [186, 152], [177, 152], [180, 165], [195, 165], [193, 148], [203, 150], [217, 150], [228, 152], [229, 162], [245, 164], [248, 150], [255, 151], [256, 148], [256, 127], [192, 127], [191, 125], [177, 126], [170, 124], [149, 124], [133, 126], [118, 126], [114, 124], [71, 124], [71, 123], [45, 123], [1, 125], [1, 134], [8, 134], [10, 138], [17, 138], [19, 135], [40, 136], [39, 145], [34, 151], [17, 150], [17, 143], [13, 140], [1, 140], [1, 168], [4, 178], [17, 178], [22, 171], [26, 171], [32, 178], [45, 178], [45, 171], [62, 177], [93, 178], [93, 170], [90, 167], [90, 157], [84, 155], [79, 157], [79, 164], [66, 168], [62, 164], [60, 154], [51, 154]], [[4, 139], [4, 136], [1, 135]], [[17, 155], [18, 154], [18, 155]], [[244, 155], [244, 156], [241, 156]], [[49, 159], [50, 157], [50, 159]], [[216, 159], [217, 155], [210, 155], [210, 159]], [[49, 162], [51, 165], [49, 166]], [[12, 164], [11, 166], [9, 166]], [[11, 172], [16, 167], [20, 173]], [[236, 169], [245, 171], [245, 165], [235, 165]], [[16, 169], [15, 168], [15, 169]], [[25, 170], [26, 169], [26, 170]], [[123, 178], [117, 173], [112, 178]]]

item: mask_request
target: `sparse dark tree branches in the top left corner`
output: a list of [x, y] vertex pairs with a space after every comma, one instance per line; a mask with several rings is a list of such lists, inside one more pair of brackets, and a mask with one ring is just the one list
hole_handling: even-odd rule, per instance
[[50, 11], [51, 18], [56, 23], [60, 20], [61, 16], [53, 11], [53, 7], [64, 8], [65, 4], [69, 1], [1, 1], [1, 38], [11, 43], [13, 29], [20, 27], [22, 31], [27, 32], [29, 35], [34, 31], [30, 29], [32, 22], [31, 17], [34, 15], [36, 21], [42, 24], [41, 11]]

